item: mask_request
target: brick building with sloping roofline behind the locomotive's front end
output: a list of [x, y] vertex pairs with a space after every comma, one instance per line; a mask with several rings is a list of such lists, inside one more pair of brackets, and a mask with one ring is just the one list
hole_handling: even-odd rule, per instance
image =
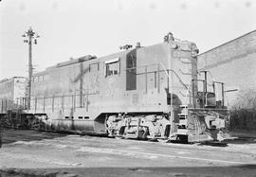
[[236, 113], [232, 118], [237, 116], [241, 120], [247, 117], [247, 123], [237, 123], [243, 124], [243, 129], [255, 131], [256, 30], [200, 54], [198, 63], [198, 69], [210, 71], [213, 80], [225, 82], [226, 104]]

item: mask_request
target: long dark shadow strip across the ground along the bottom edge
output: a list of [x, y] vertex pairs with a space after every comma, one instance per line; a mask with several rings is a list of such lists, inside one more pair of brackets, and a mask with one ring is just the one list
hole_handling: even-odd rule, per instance
[[[2, 176], [168, 176], [168, 177], [217, 177], [217, 176], [255, 176], [256, 165], [234, 167], [177, 167], [177, 168], [0, 168]], [[1, 175], [0, 175], [1, 176]]]

